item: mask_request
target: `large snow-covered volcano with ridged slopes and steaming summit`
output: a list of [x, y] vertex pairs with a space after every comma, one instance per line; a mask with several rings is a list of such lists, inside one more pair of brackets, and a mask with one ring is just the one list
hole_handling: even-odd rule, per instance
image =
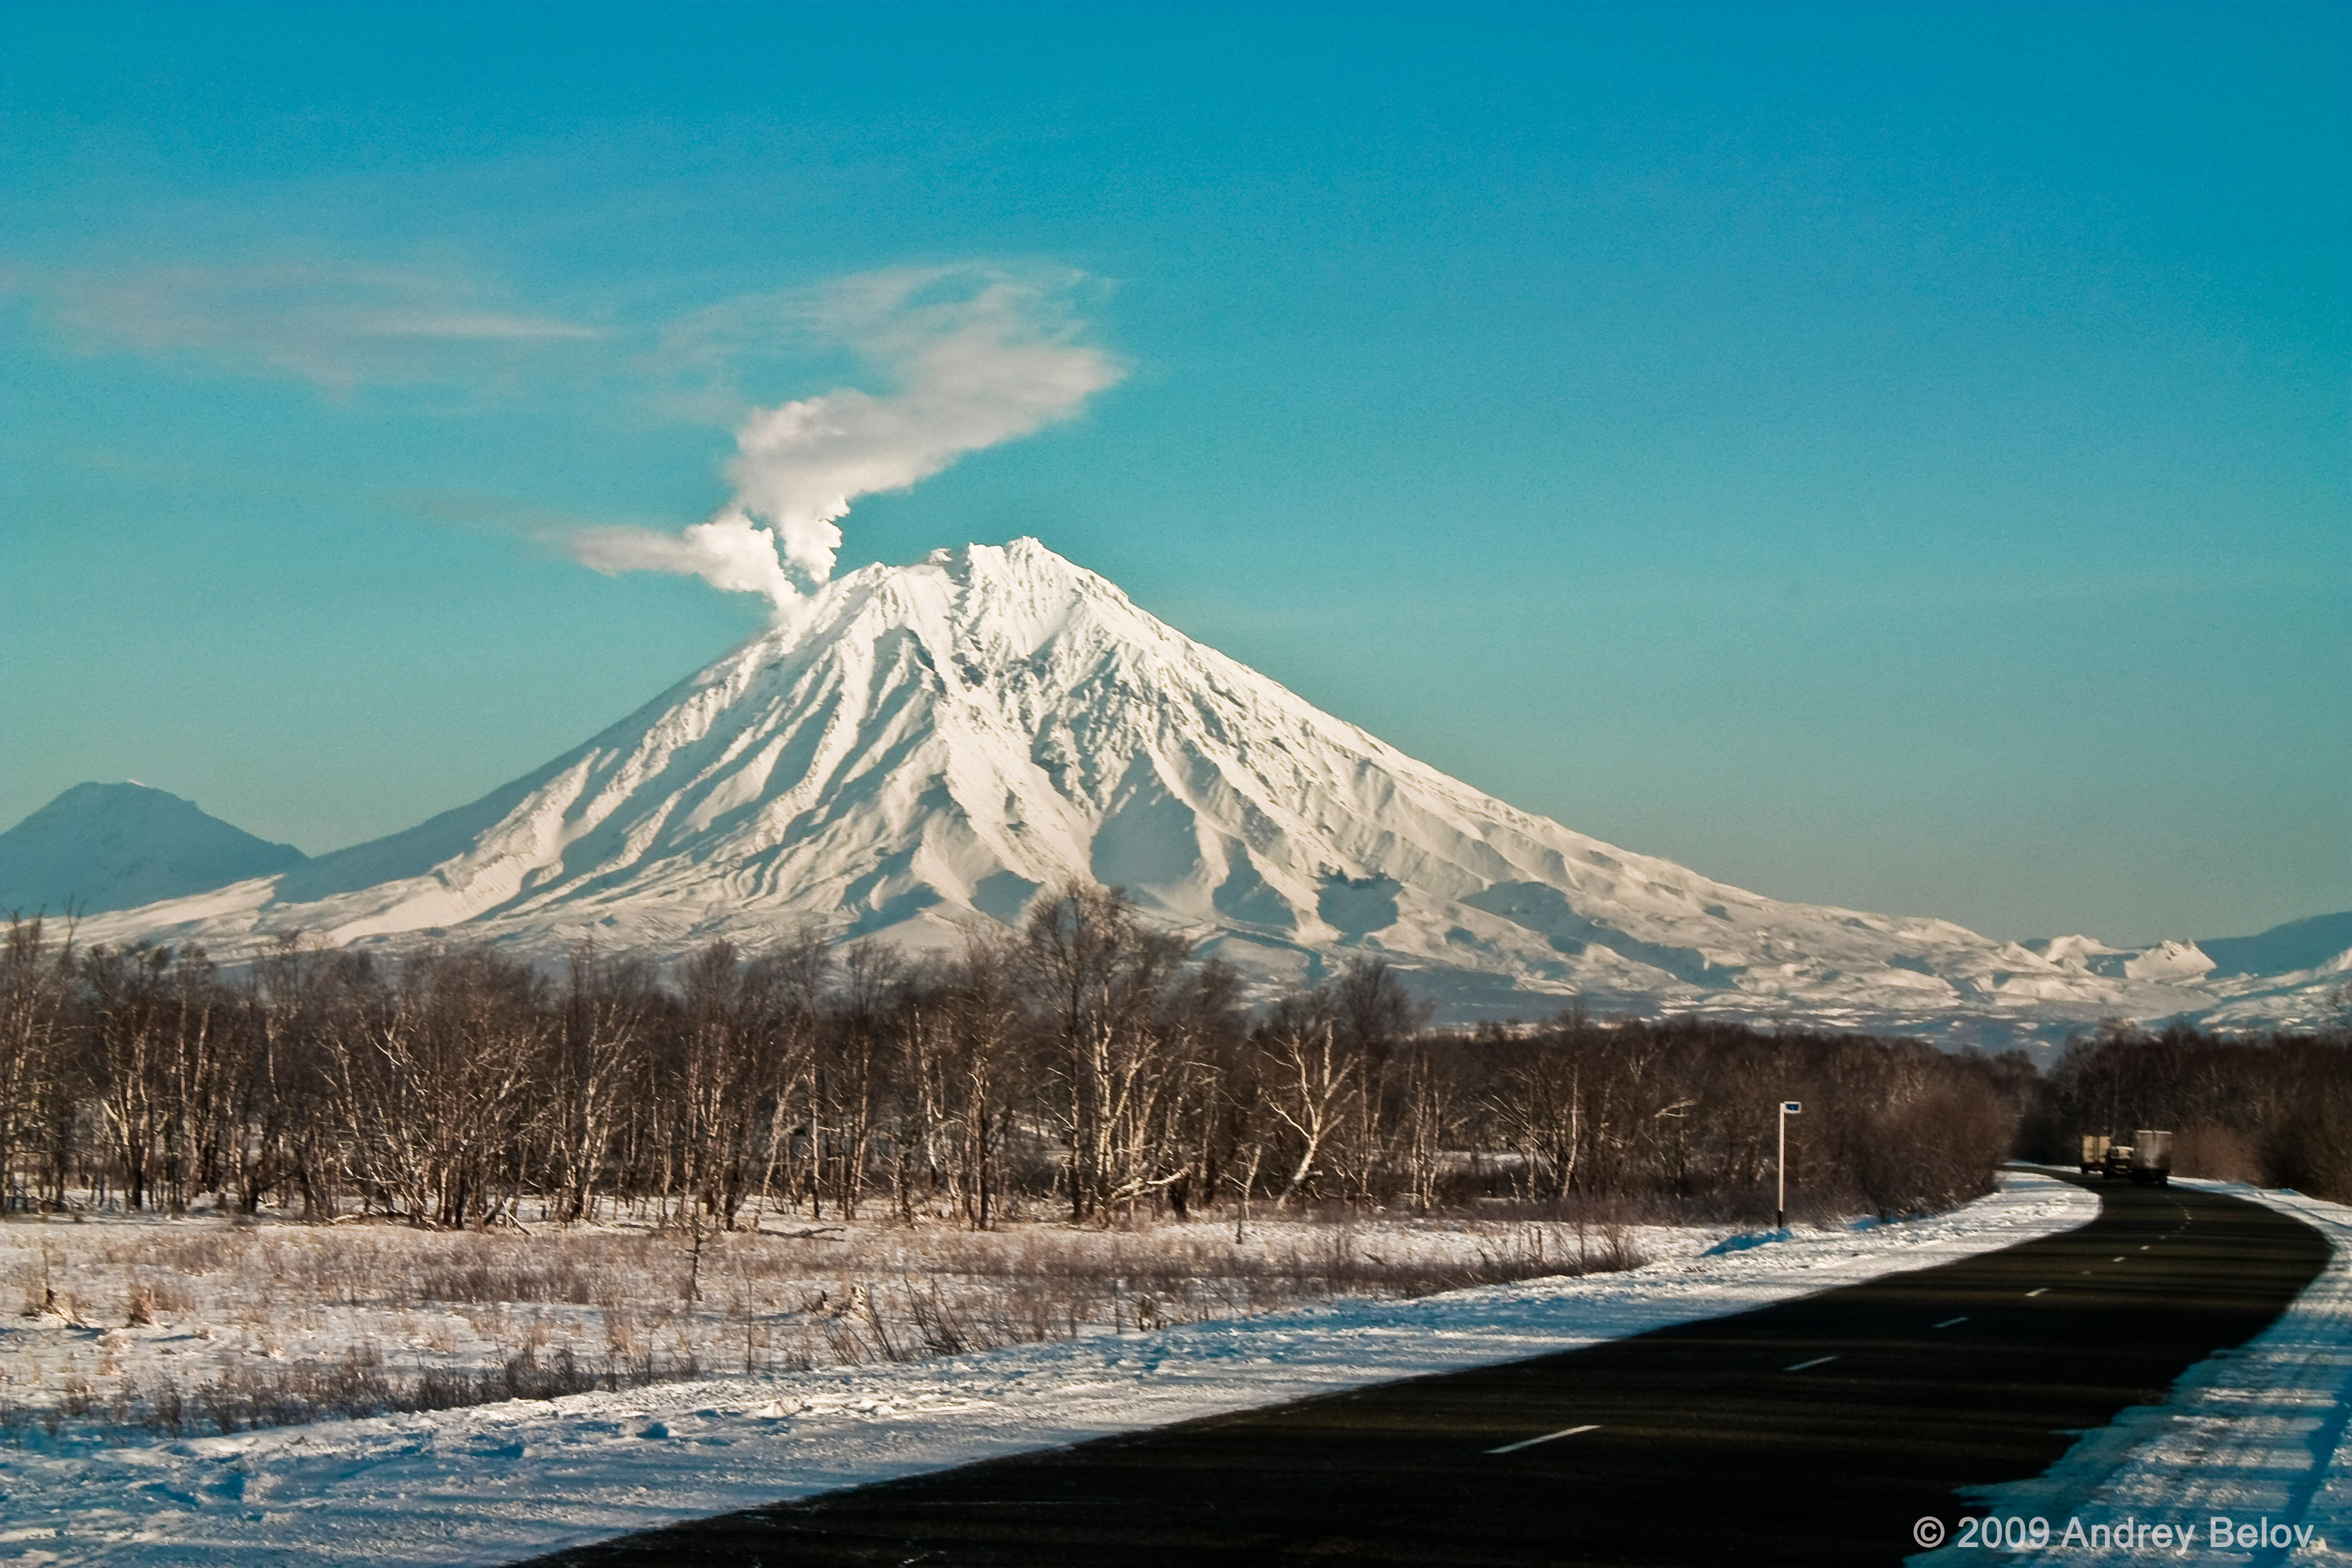
[[668, 954], [818, 917], [938, 945], [1068, 877], [1127, 886], [1263, 980], [1383, 954], [1451, 1016], [1585, 994], [1980, 1032], [2213, 1004], [2194, 973], [2119, 973], [2096, 943], [2032, 952], [1940, 919], [1776, 903], [1588, 839], [1312, 708], [1033, 538], [856, 571], [470, 806], [87, 936], [216, 954], [289, 929], [524, 950], [597, 936]]

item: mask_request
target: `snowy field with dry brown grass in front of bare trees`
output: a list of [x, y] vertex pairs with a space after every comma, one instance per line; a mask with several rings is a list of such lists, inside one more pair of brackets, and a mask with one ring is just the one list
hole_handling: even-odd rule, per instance
[[[1247, 1232], [1247, 1237], [1244, 1237]], [[1625, 1269], [1698, 1232], [1501, 1218], [1138, 1218], [1098, 1229], [755, 1218], [433, 1232], [89, 1204], [0, 1225], [0, 1439], [437, 1410], [1167, 1328], [1331, 1295]], [[1712, 1234], [1712, 1232], [1710, 1232]]]

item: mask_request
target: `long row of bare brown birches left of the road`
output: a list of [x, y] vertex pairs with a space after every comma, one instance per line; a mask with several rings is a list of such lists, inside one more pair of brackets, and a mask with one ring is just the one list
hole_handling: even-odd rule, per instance
[[[12, 919], [0, 954], [0, 1180], [181, 1211], [729, 1229], [917, 1215], [1112, 1222], [1272, 1204], [1475, 1201], [1762, 1218], [1780, 1100], [1799, 1213], [1990, 1190], [2049, 1084], [2020, 1056], [1710, 1020], [1428, 1027], [1392, 969], [1244, 1006], [1115, 889], [1070, 884], [960, 952], [760, 952], [668, 973], [581, 945], [405, 957], [285, 938], [223, 973], [193, 947], [80, 947]], [[2072, 1060], [2072, 1058], [2070, 1058]], [[2072, 1081], [2072, 1079], [2067, 1079]]]

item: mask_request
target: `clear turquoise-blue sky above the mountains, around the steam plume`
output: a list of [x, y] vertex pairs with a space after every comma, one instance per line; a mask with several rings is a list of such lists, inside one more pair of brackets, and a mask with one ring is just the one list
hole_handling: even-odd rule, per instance
[[1780, 898], [2345, 907], [2347, 19], [7, 5], [0, 818], [322, 851], [574, 745], [764, 604], [562, 541], [894, 390], [760, 301], [946, 270], [1117, 383], [844, 569], [1037, 534]]

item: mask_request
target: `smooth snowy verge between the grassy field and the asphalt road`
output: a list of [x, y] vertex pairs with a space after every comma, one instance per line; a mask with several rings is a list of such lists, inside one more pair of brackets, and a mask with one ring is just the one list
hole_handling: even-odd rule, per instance
[[1999, 1251], [2096, 1213], [2096, 1194], [2011, 1171], [1997, 1194], [1919, 1220], [1769, 1239], [1646, 1227], [1635, 1241], [1653, 1262], [1630, 1272], [179, 1441], [52, 1446], [26, 1432], [0, 1450], [0, 1561], [503, 1563], [922, 1469], [1724, 1316]]

